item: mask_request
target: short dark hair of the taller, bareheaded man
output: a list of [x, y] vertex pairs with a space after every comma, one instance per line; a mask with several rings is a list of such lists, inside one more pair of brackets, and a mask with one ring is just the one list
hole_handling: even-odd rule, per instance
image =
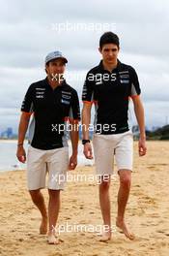
[[99, 39], [99, 48], [101, 49], [105, 44], [114, 44], [119, 48], [119, 37], [111, 31], [105, 32]]

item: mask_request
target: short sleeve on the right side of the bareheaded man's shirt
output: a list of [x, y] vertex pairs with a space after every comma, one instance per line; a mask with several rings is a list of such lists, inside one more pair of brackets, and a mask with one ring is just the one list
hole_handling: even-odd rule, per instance
[[131, 88], [130, 88], [129, 96], [134, 97], [134, 96], [140, 95], [141, 89], [140, 89], [138, 76], [136, 71], [133, 68], [130, 69], [130, 82], [131, 82]]

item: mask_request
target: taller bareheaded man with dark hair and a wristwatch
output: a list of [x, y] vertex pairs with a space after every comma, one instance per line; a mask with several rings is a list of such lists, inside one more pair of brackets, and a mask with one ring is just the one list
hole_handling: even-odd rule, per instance
[[[128, 99], [134, 104], [134, 112], [140, 130], [139, 155], [146, 154], [144, 109], [140, 99], [140, 86], [135, 70], [118, 59], [119, 38], [112, 32], [104, 33], [99, 40], [102, 56], [97, 67], [91, 69], [83, 86], [83, 141], [86, 158], [92, 159], [93, 152], [89, 140], [89, 125], [92, 104], [96, 107], [95, 134], [93, 139], [97, 175], [100, 176], [99, 203], [103, 224], [108, 227], [101, 240], [111, 239], [111, 216], [109, 187], [113, 175], [113, 155], [115, 155], [120, 188], [118, 193], [118, 213], [116, 225], [128, 239], [134, 236], [127, 228], [125, 210], [129, 196], [133, 138], [128, 128]], [[106, 178], [104, 178], [106, 176]], [[105, 180], [106, 179], [106, 180]]]

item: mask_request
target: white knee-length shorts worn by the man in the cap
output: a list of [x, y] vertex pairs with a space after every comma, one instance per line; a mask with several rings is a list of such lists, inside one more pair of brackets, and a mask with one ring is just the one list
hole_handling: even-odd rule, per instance
[[[64, 189], [69, 168], [69, 147], [42, 150], [33, 146], [28, 147], [27, 153], [27, 186], [28, 190], [45, 187], [48, 173], [49, 189]], [[62, 178], [60, 178], [62, 176]]]

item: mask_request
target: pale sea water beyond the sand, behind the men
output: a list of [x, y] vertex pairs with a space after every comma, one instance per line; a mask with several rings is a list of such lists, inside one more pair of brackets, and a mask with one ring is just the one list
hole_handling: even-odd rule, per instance
[[[4, 140], [0, 141], [0, 172], [3, 171], [14, 171], [26, 169], [26, 164], [20, 163], [16, 154], [16, 141]], [[69, 143], [70, 144], [70, 143]], [[27, 142], [24, 144], [25, 150], [28, 148]], [[71, 146], [70, 153], [71, 153]], [[83, 146], [81, 142], [78, 145], [78, 166], [91, 166], [94, 164], [93, 160], [88, 160], [83, 155]]]

